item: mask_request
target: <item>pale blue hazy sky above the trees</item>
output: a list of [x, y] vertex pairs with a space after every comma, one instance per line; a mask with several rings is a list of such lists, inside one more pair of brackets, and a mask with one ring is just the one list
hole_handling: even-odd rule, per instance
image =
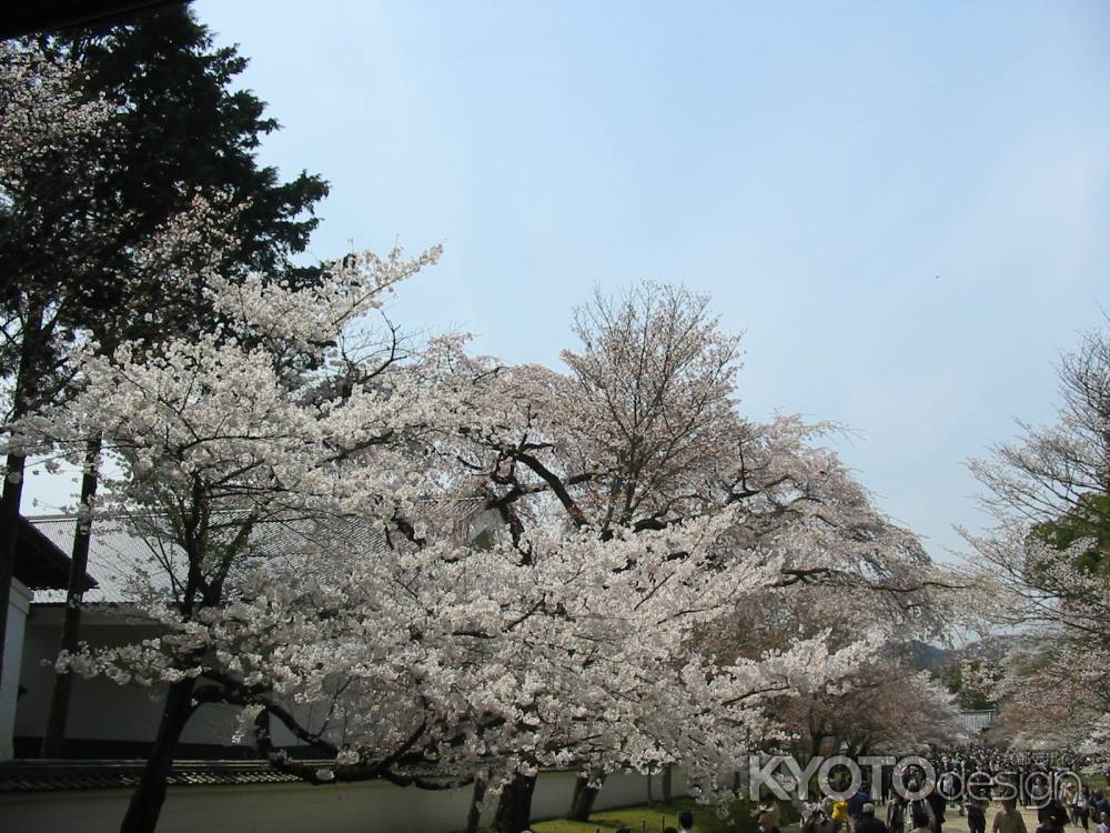
[[555, 364], [644, 278], [745, 331], [740, 397], [839, 421], [934, 555], [963, 461], [1050, 419], [1110, 305], [1110, 4], [199, 0], [332, 183], [312, 251], [442, 241], [410, 328]]

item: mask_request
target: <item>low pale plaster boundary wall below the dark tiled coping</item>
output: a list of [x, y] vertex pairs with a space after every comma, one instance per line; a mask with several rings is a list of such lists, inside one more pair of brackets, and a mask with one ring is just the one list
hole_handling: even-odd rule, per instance
[[[676, 773], [675, 794], [685, 792]], [[533, 817], [566, 813], [574, 773], [545, 772], [533, 797]], [[658, 795], [658, 779], [655, 790]], [[20, 833], [115, 833], [127, 810], [127, 790], [0, 794], [0, 830]], [[643, 775], [606, 780], [597, 809], [640, 804]], [[471, 787], [428, 792], [384, 782], [310, 786], [170, 787], [159, 833], [453, 833], [466, 826]], [[491, 814], [492, 815], [492, 814]], [[490, 817], [483, 819], [487, 823]]]

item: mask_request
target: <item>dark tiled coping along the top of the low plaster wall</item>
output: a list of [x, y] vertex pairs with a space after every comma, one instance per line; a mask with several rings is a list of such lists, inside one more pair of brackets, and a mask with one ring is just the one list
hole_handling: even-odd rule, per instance
[[[321, 761], [321, 766], [335, 762]], [[0, 794], [58, 790], [134, 789], [143, 761], [2, 761]], [[167, 783], [170, 786], [241, 786], [243, 784], [297, 783], [300, 779], [278, 772], [264, 761], [178, 761]]]

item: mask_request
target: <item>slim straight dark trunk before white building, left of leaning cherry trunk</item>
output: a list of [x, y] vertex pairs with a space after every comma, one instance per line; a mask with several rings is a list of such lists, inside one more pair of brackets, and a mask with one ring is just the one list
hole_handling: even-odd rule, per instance
[[[73, 532], [69, 588], [65, 591], [65, 619], [62, 622], [62, 638], [59, 653], [73, 653], [81, 636], [81, 602], [84, 595], [84, 572], [89, 566], [89, 541], [92, 538], [92, 501], [97, 496], [97, 459], [100, 456], [99, 436], [89, 440], [84, 452], [84, 475], [81, 478], [81, 503]], [[73, 674], [54, 675], [54, 688], [50, 693], [50, 714], [47, 732], [42, 737], [42, 756], [61, 757], [65, 746], [65, 721], [69, 716], [70, 695], [73, 692]]]

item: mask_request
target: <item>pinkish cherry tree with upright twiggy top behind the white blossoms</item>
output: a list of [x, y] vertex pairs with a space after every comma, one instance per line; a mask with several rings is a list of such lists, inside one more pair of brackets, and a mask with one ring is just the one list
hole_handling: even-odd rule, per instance
[[[476, 363], [472, 373], [483, 384], [470, 410], [486, 420], [464, 426], [462, 446], [448, 442], [442, 450], [458, 462], [461, 481], [472, 478], [472, 489], [490, 494], [485, 505], [501, 514], [522, 561], [532, 558], [527, 535], [536, 526], [605, 541], [727, 513], [733, 520], [709, 569], [726, 575], [771, 570], [774, 576], [755, 594], [720, 598], [720, 615], [695, 629], [685, 656], [754, 662], [806, 640], [829, 644], [830, 628], [764, 644], [735, 639], [723, 616], [757, 604], [756, 596], [770, 596], [760, 610], [793, 609], [810, 589], [866, 590], [872, 609], [897, 611], [901, 621], [921, 618], [925, 593], [939, 582], [916, 538], [884, 519], [836, 455], [810, 442], [828, 426], [786, 416], [757, 425], [739, 415], [738, 340], [719, 331], [707, 299], [642, 284], [618, 299], [596, 297], [578, 312], [575, 332], [582, 349], [564, 352], [566, 374]], [[836, 622], [835, 614], [827, 621]], [[869, 630], [860, 623], [839, 648], [858, 651]], [[809, 689], [836, 678], [819, 663], [807, 673]], [[788, 688], [797, 691], [779, 691]], [[686, 714], [693, 724], [696, 717]], [[713, 735], [745, 750], [751, 737], [769, 733], [766, 724], [755, 731], [737, 721], [731, 727], [719, 722]], [[708, 746], [704, 736], [700, 744]], [[622, 766], [679, 761], [689, 770], [698, 760], [680, 745], [660, 749], [655, 761], [595, 755], [588, 746], [575, 755], [584, 771], [579, 796], [587, 780], [596, 783]], [[722, 752], [724, 761], [718, 777], [728, 765], [737, 769], [737, 757]], [[528, 777], [514, 789], [526, 793]], [[578, 802], [577, 814], [588, 801]]]

